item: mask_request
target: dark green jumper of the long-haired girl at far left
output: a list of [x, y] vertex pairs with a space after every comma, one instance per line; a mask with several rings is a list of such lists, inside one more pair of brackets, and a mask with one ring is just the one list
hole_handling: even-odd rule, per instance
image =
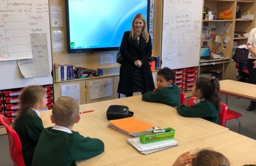
[[43, 130], [43, 122], [35, 112], [33, 112], [33, 116], [28, 116], [24, 112], [16, 123], [14, 130], [21, 141], [24, 163], [26, 166], [31, 166], [35, 146]]

